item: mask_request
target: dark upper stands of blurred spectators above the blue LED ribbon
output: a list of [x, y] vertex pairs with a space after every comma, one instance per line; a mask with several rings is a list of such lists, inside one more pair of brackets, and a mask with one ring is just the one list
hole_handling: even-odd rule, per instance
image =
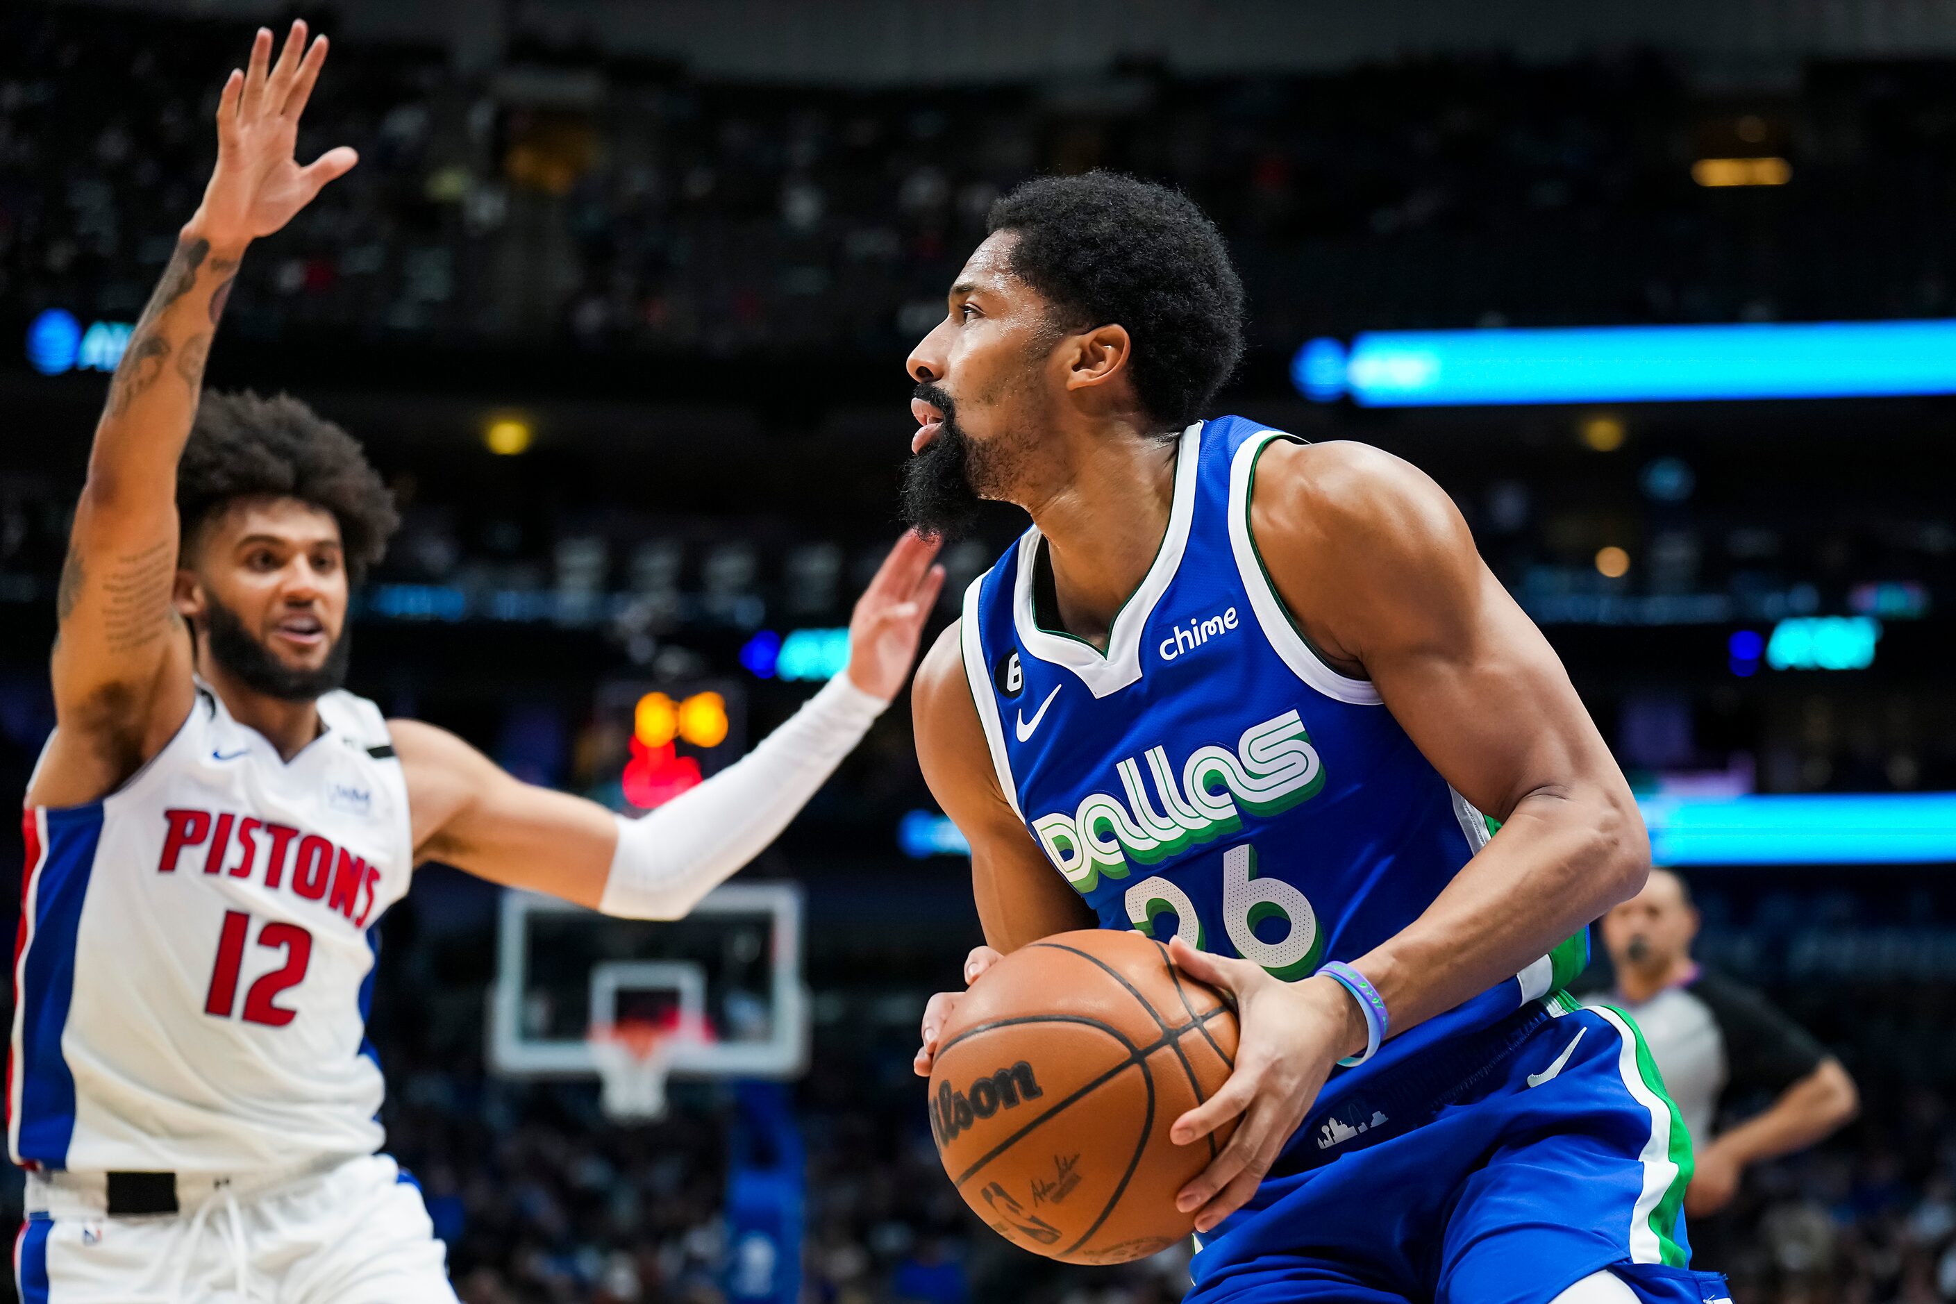
[[[246, 43], [80, 4], [0, 14], [0, 305], [137, 313]], [[1285, 356], [1395, 325], [1929, 317], [1956, 311], [1948, 76], [1821, 65], [1733, 104], [1616, 55], [853, 92], [520, 43], [464, 76], [438, 49], [342, 41], [303, 149], [362, 164], [250, 260], [231, 315], [268, 338], [884, 354], [941, 313], [1001, 190], [1109, 166], [1217, 217], [1254, 340]], [[1706, 152], [1788, 154], [1792, 184], [1702, 190]]]

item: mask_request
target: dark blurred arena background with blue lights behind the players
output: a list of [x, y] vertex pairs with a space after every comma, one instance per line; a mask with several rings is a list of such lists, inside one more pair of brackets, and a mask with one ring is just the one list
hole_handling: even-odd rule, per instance
[[[10, 794], [53, 725], [55, 581], [108, 371], [201, 194], [225, 72], [293, 14], [0, 8]], [[1250, 293], [1217, 411], [1447, 489], [1690, 882], [1698, 958], [1860, 1087], [1850, 1126], [1694, 1224], [1706, 1267], [1739, 1304], [1956, 1300], [1956, 8], [303, 16], [334, 53], [301, 158], [362, 162], [250, 252], [209, 383], [303, 397], [395, 491], [352, 688], [618, 809], [710, 774], [839, 665], [900, 528], [904, 356], [990, 201], [1046, 172], [1174, 184]], [[1577, 328], [1639, 330], [1555, 332]], [[1596, 338], [1622, 342], [1610, 366], [1584, 362]], [[1514, 350], [1483, 391], [1430, 383], [1487, 340]], [[1721, 368], [1731, 350], [1751, 362]], [[1702, 364], [1684, 383], [1678, 356]], [[1019, 520], [949, 549], [931, 631]], [[647, 723], [651, 692], [724, 716]], [[6, 876], [20, 860], [0, 841]], [[1025, 1255], [937, 1165], [910, 1058], [980, 931], [902, 700], [737, 880], [804, 893], [812, 1056], [786, 1087], [681, 1079], [665, 1120], [618, 1126], [589, 1077], [493, 1071], [499, 891], [417, 878], [372, 1036], [389, 1150], [469, 1304], [1185, 1288], [1185, 1253]]]

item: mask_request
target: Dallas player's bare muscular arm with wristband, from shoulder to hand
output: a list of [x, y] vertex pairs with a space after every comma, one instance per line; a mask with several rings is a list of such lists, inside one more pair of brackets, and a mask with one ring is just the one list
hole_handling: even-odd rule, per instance
[[[1500, 821], [1418, 919], [1352, 960], [1393, 1034], [1512, 979], [1641, 888], [1651, 852], [1629, 784], [1432, 479], [1361, 444], [1271, 444], [1250, 530], [1307, 641], [1369, 678], [1453, 790]], [[1332, 1065], [1367, 1038], [1330, 978], [1279, 983], [1244, 960], [1179, 944], [1174, 956], [1228, 987], [1244, 1021], [1236, 1073], [1174, 1128], [1185, 1144], [1244, 1116], [1181, 1195], [1207, 1230], [1250, 1198]]]

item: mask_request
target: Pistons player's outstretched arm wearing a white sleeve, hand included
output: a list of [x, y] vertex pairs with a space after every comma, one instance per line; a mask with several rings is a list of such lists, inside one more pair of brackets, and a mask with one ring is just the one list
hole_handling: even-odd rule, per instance
[[417, 860], [632, 919], [679, 919], [753, 860], [904, 686], [943, 588], [937, 543], [904, 536], [857, 602], [849, 669], [737, 762], [644, 819], [524, 784], [444, 729], [393, 721]]

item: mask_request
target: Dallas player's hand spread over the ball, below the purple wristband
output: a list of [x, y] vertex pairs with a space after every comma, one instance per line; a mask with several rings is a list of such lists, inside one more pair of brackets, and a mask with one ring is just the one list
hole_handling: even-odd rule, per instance
[[1189, 1146], [1242, 1116], [1222, 1153], [1176, 1196], [1176, 1208], [1195, 1214], [1195, 1230], [1209, 1232], [1256, 1195], [1332, 1065], [1365, 1048], [1365, 1022], [1350, 993], [1330, 978], [1287, 983], [1248, 960], [1195, 950], [1179, 936], [1168, 944], [1168, 958], [1191, 978], [1228, 991], [1242, 1024], [1228, 1081], [1168, 1130], [1178, 1146]]

